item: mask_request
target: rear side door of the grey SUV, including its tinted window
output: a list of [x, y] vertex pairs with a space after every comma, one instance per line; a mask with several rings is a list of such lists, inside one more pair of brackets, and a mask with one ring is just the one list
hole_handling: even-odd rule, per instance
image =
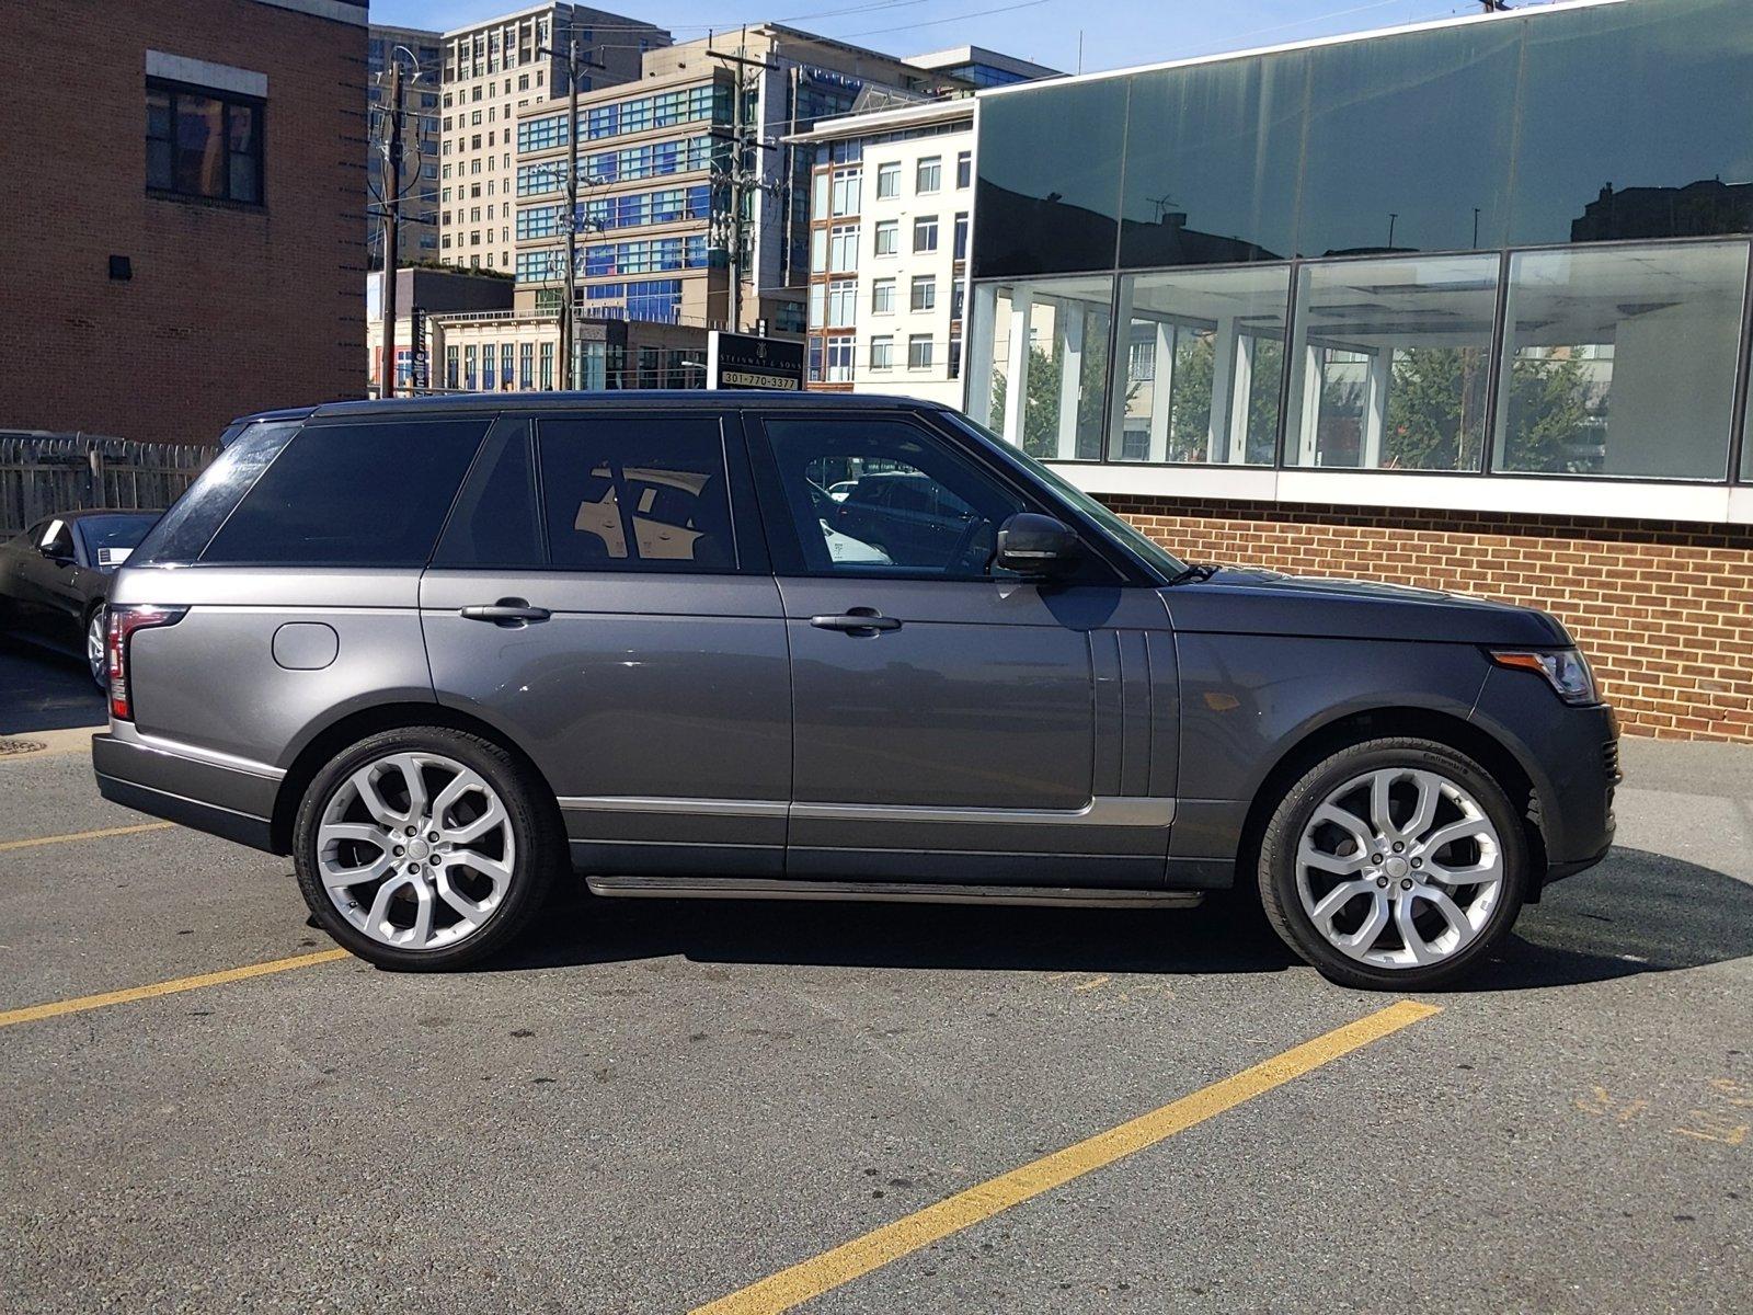
[[608, 875], [775, 875], [785, 626], [735, 416], [507, 417], [421, 582], [442, 703], [501, 726]]

